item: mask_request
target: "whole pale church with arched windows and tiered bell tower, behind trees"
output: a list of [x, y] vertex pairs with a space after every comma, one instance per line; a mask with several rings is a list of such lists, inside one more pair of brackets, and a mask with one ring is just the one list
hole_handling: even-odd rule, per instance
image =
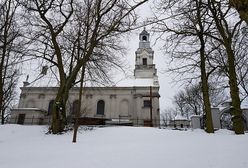
[[[85, 87], [82, 95], [80, 124], [158, 126], [160, 121], [159, 82], [153, 63], [150, 35], [139, 34], [135, 52], [133, 79], [114, 87]], [[124, 82], [125, 83], [125, 82]], [[18, 108], [12, 109], [10, 123], [49, 124], [56, 87], [21, 87]], [[79, 88], [70, 90], [68, 120], [73, 119], [79, 104]]]

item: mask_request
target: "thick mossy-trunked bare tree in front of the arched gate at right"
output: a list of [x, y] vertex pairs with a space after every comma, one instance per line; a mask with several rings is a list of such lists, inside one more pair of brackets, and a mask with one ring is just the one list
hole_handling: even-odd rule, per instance
[[[235, 17], [235, 13], [230, 10], [230, 7], [224, 2], [218, 2], [215, 0], [208, 0], [208, 7], [211, 11], [211, 17], [214, 20], [214, 24], [217, 28], [217, 34], [211, 37], [220, 43], [225, 49], [225, 55], [227, 56], [227, 74], [230, 86], [230, 95], [232, 98], [233, 106], [233, 128], [236, 134], [244, 134], [244, 125], [242, 110], [240, 108], [241, 101], [239, 97], [238, 79], [236, 72], [237, 55], [235, 54], [235, 48], [233, 46], [234, 37], [237, 33], [239, 25], [242, 21], [237, 21], [234, 25], [230, 25], [228, 22], [228, 16]], [[214, 33], [212, 33], [214, 34]]]

